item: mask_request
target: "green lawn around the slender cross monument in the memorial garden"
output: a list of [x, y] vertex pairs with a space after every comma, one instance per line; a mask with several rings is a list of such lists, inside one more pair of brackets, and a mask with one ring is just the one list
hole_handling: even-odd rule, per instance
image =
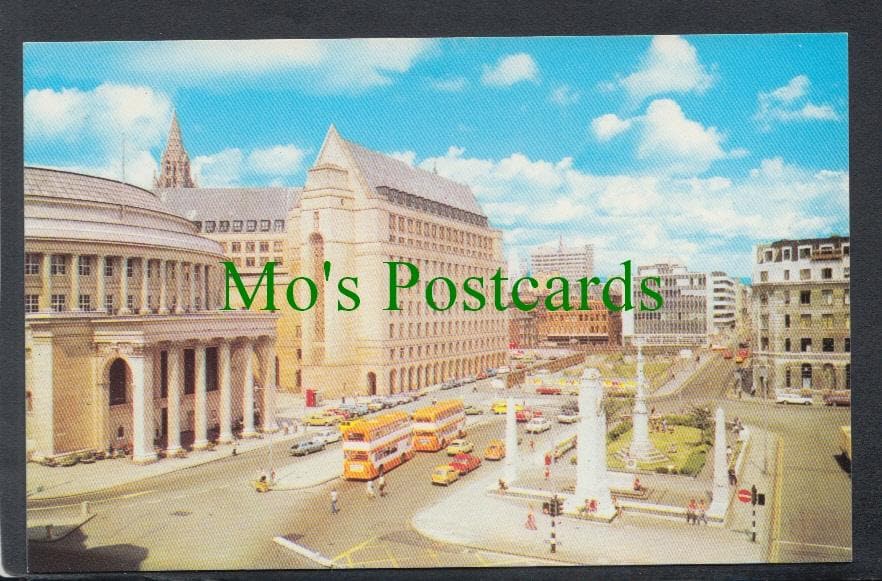
[[[622, 434], [607, 445], [607, 465], [612, 470], [625, 468], [625, 463], [616, 457], [616, 452], [631, 445], [631, 430]], [[707, 447], [701, 444], [701, 430], [687, 426], [674, 426], [669, 433], [650, 432], [649, 439], [657, 450], [668, 456], [670, 460], [654, 463], [638, 463], [641, 470], [656, 471], [657, 468], [668, 469], [676, 474], [697, 474], [704, 466]], [[676, 452], [669, 452], [671, 446]], [[670, 466], [673, 466], [671, 470]]]

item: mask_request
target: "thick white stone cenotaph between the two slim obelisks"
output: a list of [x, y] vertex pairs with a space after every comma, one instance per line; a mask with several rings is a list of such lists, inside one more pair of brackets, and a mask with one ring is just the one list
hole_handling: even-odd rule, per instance
[[606, 411], [603, 409], [603, 384], [597, 369], [586, 369], [579, 386], [579, 422], [577, 437], [576, 491], [567, 499], [567, 510], [597, 502], [593, 517], [610, 521], [615, 508], [606, 474]]

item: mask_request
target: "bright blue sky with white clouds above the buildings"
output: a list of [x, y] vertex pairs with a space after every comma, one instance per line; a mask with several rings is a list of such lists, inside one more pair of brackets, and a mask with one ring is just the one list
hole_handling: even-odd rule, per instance
[[202, 186], [302, 185], [332, 123], [466, 183], [510, 267], [563, 237], [746, 277], [849, 232], [844, 34], [25, 45], [28, 165], [150, 187], [173, 110]]

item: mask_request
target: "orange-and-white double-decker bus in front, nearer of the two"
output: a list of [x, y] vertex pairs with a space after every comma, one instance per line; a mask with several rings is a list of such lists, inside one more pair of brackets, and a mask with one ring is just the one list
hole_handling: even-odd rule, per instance
[[373, 480], [413, 458], [413, 422], [404, 412], [354, 420], [342, 432], [346, 480]]

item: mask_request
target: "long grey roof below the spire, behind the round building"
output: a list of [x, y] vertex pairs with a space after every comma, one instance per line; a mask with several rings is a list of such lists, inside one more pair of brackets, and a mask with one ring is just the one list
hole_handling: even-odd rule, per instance
[[284, 220], [301, 188], [164, 188], [157, 194], [188, 220]]

